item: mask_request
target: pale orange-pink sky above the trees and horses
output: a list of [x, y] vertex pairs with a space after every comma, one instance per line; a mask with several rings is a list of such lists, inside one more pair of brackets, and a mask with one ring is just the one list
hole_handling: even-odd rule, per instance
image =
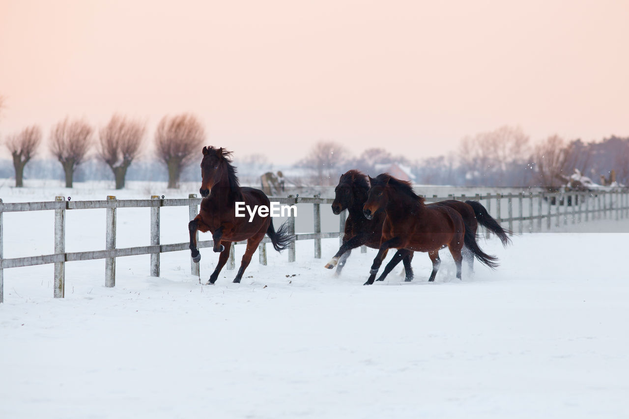
[[629, 136], [627, 21], [626, 0], [0, 0], [0, 138], [191, 111], [208, 144], [282, 164], [321, 139], [412, 160], [505, 124]]

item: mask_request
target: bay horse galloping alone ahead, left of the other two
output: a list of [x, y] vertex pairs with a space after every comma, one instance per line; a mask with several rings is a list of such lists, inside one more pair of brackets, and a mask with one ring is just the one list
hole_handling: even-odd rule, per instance
[[287, 223], [275, 230], [273, 220], [268, 215], [261, 216], [260, 211], [255, 211], [253, 219], [249, 216], [236, 216], [236, 203], [244, 202], [250, 206], [266, 206], [269, 208], [269, 198], [253, 187], [241, 187], [236, 176], [236, 168], [231, 165], [231, 152], [221, 148], [203, 147], [203, 160], [201, 160], [201, 188], [199, 193], [203, 197], [201, 210], [188, 224], [190, 232], [190, 250], [192, 260], [199, 262], [201, 254], [197, 249], [197, 230], [205, 233], [211, 232], [214, 240], [213, 250], [220, 253], [216, 269], [209, 277], [207, 284], [214, 284], [221, 269], [230, 255], [232, 242], [247, 240], [247, 250], [240, 262], [240, 269], [233, 282], [240, 282], [243, 273], [258, 245], [268, 235], [273, 248], [278, 252], [290, 247], [294, 236], [289, 232]]

